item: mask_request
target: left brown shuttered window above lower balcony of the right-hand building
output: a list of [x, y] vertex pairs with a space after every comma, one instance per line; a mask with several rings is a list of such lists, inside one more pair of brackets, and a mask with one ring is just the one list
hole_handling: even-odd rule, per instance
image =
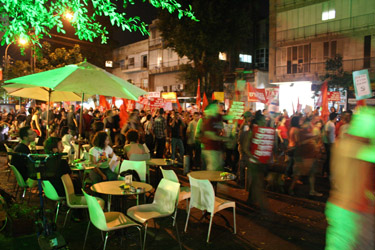
[[287, 48], [287, 74], [310, 72], [310, 44]]

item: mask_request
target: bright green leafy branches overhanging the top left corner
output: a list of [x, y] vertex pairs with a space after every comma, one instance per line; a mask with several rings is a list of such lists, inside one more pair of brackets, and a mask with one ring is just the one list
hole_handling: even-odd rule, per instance
[[[123, 6], [134, 4], [135, 0], [121, 0]], [[146, 0], [139, 0], [146, 2]], [[71, 14], [69, 22], [75, 29], [75, 34], [81, 40], [93, 41], [101, 38], [107, 42], [108, 31], [97, 21], [98, 16], [108, 17], [113, 26], [122, 30], [139, 31], [148, 34], [147, 24], [138, 16], [128, 17], [119, 12], [117, 0], [0, 0], [0, 32], [4, 32], [1, 45], [25, 38], [33, 44], [39, 44], [39, 39], [50, 36], [52, 29], [65, 34], [64, 22], [66, 13]], [[178, 17], [188, 17], [196, 21], [191, 6], [183, 9], [176, 0], [149, 0], [155, 8], [177, 12]], [[40, 44], [39, 44], [40, 45]]]

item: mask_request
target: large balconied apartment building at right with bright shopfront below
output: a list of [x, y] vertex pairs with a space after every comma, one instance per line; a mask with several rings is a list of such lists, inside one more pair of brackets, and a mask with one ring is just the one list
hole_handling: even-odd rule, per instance
[[337, 54], [344, 71], [375, 78], [375, 0], [270, 0], [269, 18], [269, 79], [280, 85], [280, 106], [298, 95], [312, 105], [311, 84]]

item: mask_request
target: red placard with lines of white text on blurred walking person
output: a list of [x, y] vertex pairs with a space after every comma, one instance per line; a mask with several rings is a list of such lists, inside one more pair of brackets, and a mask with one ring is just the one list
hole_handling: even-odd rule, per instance
[[275, 129], [254, 126], [251, 154], [260, 163], [268, 163], [271, 158], [274, 138]]

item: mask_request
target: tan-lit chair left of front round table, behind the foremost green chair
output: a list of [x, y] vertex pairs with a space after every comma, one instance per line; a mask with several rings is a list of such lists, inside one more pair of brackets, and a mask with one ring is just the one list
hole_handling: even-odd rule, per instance
[[[66, 204], [68, 205], [69, 209], [68, 212], [66, 213], [65, 220], [64, 220], [64, 225], [65, 227], [66, 220], [68, 219], [68, 215], [70, 213], [70, 210], [73, 209], [79, 209], [79, 208], [87, 208], [87, 202], [85, 199], [85, 196], [83, 195], [76, 195], [74, 193], [74, 186], [72, 179], [70, 178], [69, 174], [64, 174], [61, 176], [61, 180], [64, 185], [64, 190], [65, 190], [65, 197], [66, 197]], [[96, 198], [100, 204], [100, 206], [103, 208], [104, 207], [104, 200], [101, 198]]]

